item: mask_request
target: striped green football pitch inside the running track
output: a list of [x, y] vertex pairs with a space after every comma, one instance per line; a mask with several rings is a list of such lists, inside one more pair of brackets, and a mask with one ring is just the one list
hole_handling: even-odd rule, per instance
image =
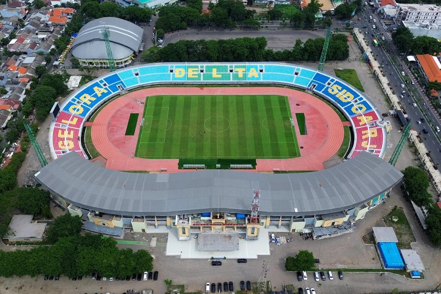
[[283, 96], [152, 96], [135, 156], [292, 158], [300, 154]]

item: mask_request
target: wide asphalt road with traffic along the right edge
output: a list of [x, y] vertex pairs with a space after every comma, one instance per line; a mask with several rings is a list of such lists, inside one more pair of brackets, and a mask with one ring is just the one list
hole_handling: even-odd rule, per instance
[[[369, 23], [369, 16], [372, 16], [372, 19], [375, 19], [376, 22], [374, 23], [373, 20], [371, 20], [371, 22]], [[432, 109], [433, 106], [431, 105], [431, 103], [426, 100], [427, 98], [422, 92], [421, 86], [418, 85], [417, 79], [413, 77], [412, 73], [409, 71], [405, 63], [402, 62], [402, 60], [400, 59], [404, 55], [400, 55], [399, 53], [397, 53], [395, 48], [393, 48], [391, 35], [384, 30], [381, 23], [378, 21], [379, 15], [373, 14], [372, 11], [367, 8], [366, 10], [359, 13], [356, 18], [358, 19], [358, 17], [361, 17], [362, 21], [356, 23], [355, 27], [358, 27], [363, 31], [363, 34], [369, 41], [368, 45], [370, 49], [372, 50], [373, 54], [376, 55], [377, 61], [380, 64], [384, 65], [383, 71], [386, 74], [386, 77], [389, 79], [389, 82], [396, 95], [404, 96], [404, 98], [401, 99], [401, 102], [406, 109], [409, 118], [412, 120], [412, 128], [417, 130], [418, 132], [421, 132], [421, 137], [424, 138], [424, 145], [428, 150], [431, 151], [431, 156], [434, 159], [435, 163], [441, 163], [441, 145], [435, 136], [434, 130], [430, 127], [427, 119], [425, 119], [426, 122], [424, 123], [417, 123], [418, 121], [421, 121], [421, 118], [424, 118], [422, 114], [422, 111], [424, 111], [426, 115], [425, 117], [432, 121], [433, 127], [435, 128], [435, 126], [438, 125], [441, 128], [441, 123], [438, 116], [436, 115], [436, 111]], [[375, 25], [376, 29], [373, 29], [372, 25]], [[385, 40], [382, 40], [382, 37], [384, 37]], [[381, 44], [383, 44], [383, 47], [374, 47], [372, 42], [373, 39], [376, 39]], [[385, 51], [386, 48], [390, 49], [391, 53], [388, 54]], [[392, 57], [394, 57], [395, 60], [398, 62], [398, 64], [395, 63], [396, 66], [392, 66]], [[401, 74], [402, 72], [404, 72], [404, 75]], [[412, 81], [415, 82], [415, 85], [405, 82], [406, 79], [409, 80], [410, 78], [412, 78]], [[404, 88], [401, 87], [401, 84], [404, 85]], [[409, 90], [412, 90], [413, 93], [416, 93], [416, 96], [414, 96], [412, 92], [409, 92]], [[405, 93], [402, 93], [402, 91], [405, 91]], [[421, 100], [418, 98], [423, 99]], [[413, 103], [416, 103], [417, 107], [414, 107]], [[428, 134], [424, 134], [422, 132], [424, 128], [428, 131]]]

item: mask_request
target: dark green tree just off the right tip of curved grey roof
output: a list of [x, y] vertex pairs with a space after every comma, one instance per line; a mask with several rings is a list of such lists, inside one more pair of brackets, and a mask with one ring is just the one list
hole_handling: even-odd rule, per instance
[[404, 174], [403, 180], [409, 199], [418, 206], [424, 206], [431, 202], [431, 196], [427, 192], [430, 182], [427, 174], [414, 166], [409, 166], [401, 171]]

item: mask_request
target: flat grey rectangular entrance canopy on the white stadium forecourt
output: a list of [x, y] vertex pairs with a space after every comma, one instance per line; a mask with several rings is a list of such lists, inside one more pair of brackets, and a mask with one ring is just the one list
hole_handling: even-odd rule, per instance
[[198, 234], [199, 251], [234, 251], [239, 250], [237, 234]]

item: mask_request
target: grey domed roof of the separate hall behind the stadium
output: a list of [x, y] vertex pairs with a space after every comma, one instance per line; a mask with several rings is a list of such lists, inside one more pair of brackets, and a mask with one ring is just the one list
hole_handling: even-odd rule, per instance
[[106, 44], [101, 30], [110, 32], [110, 47], [114, 59], [123, 59], [138, 53], [144, 30], [138, 25], [116, 17], [103, 17], [84, 25], [71, 46], [73, 56], [80, 59], [107, 59]]

